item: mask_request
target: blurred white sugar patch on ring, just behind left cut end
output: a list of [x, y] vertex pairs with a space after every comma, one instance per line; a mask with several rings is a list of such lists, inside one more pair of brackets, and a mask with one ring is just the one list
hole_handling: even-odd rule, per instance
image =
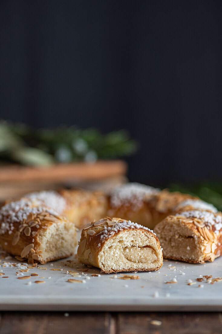
[[25, 195], [26, 198], [32, 201], [40, 201], [42, 204], [56, 210], [58, 213], [63, 213], [66, 207], [66, 200], [56, 191], [40, 191], [32, 192]]

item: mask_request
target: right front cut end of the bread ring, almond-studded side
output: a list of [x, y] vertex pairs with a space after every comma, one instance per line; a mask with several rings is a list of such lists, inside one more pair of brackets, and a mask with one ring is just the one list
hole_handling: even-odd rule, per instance
[[154, 231], [163, 247], [164, 259], [204, 263], [222, 255], [220, 212], [191, 210], [169, 215]]

